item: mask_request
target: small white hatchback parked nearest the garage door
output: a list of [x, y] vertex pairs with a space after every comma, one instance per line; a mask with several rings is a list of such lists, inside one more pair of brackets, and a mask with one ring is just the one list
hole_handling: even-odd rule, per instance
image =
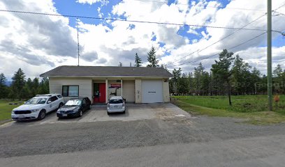
[[107, 105], [107, 113], [126, 112], [125, 100], [122, 96], [112, 96]]

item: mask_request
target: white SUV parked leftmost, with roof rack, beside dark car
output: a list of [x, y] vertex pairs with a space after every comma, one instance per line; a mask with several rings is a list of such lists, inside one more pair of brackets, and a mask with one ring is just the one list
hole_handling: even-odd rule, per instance
[[59, 94], [36, 95], [23, 105], [12, 110], [13, 120], [42, 120], [45, 114], [64, 105], [64, 98]]

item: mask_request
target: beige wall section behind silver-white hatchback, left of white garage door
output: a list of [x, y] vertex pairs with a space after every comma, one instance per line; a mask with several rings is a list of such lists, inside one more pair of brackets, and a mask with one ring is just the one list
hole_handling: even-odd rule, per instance
[[126, 102], [135, 102], [135, 81], [123, 80], [123, 97]]

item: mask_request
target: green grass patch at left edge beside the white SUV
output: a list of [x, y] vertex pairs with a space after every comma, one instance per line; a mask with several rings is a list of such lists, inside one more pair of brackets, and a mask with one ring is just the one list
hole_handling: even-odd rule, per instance
[[11, 119], [12, 109], [20, 106], [20, 103], [17, 102], [17, 105], [9, 105], [10, 101], [0, 100], [0, 122], [3, 120]]

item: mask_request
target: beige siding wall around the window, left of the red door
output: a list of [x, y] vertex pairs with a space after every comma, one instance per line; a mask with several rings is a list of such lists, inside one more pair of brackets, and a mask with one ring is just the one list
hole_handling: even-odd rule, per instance
[[[89, 97], [92, 100], [92, 79], [89, 78], [52, 78], [50, 77], [50, 93], [62, 93], [62, 86], [78, 85], [79, 96]], [[71, 97], [64, 97], [67, 101]]]

